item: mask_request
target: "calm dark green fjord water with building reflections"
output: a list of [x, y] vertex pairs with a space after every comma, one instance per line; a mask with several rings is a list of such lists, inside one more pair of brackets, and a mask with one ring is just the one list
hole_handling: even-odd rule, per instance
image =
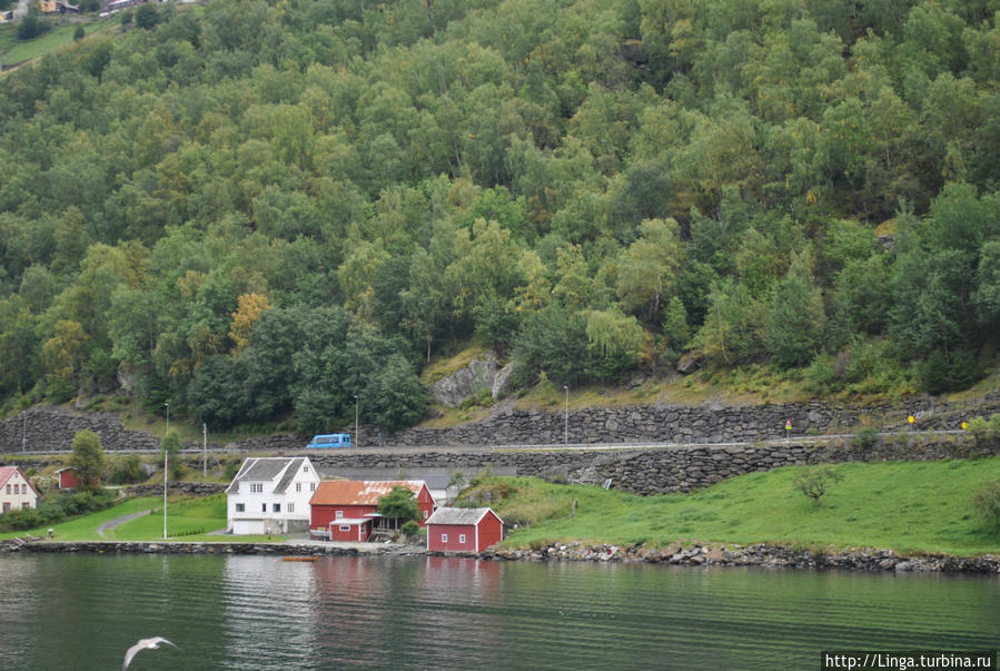
[[1000, 648], [1000, 578], [453, 557], [0, 556], [0, 667], [815, 669]]

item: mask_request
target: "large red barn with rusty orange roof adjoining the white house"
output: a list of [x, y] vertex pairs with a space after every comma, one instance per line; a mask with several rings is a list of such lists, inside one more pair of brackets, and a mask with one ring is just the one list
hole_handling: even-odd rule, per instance
[[[340, 525], [349, 525], [345, 521], [369, 520], [372, 521], [369, 533], [394, 530], [397, 526], [396, 520], [384, 520], [378, 514], [378, 501], [392, 492], [393, 487], [406, 487], [414, 493], [422, 517], [418, 520], [418, 524], [423, 526], [434, 511], [434, 499], [430, 497], [430, 490], [420, 480], [328, 480], [319, 483], [316, 493], [309, 500], [311, 507], [309, 529], [324, 531], [330, 529], [331, 532], [334, 530], [339, 532]], [[345, 531], [344, 533], [350, 532]], [[331, 533], [331, 540], [341, 539], [333, 537]], [[357, 540], [357, 533], [350, 540]]]

